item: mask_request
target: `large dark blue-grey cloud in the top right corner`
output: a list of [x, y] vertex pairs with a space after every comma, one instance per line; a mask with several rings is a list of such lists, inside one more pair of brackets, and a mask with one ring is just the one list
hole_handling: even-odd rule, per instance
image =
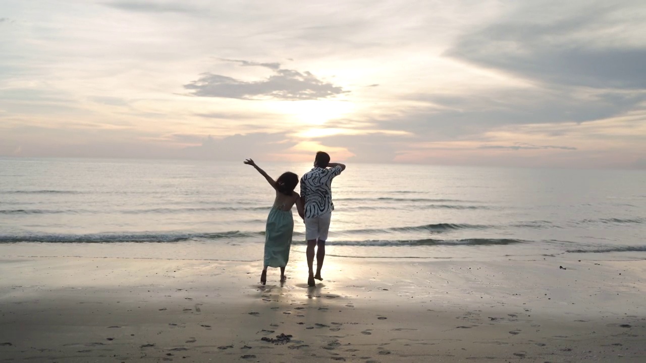
[[616, 34], [618, 28], [623, 33], [639, 32], [643, 26], [623, 15], [640, 4], [583, 2], [572, 12], [575, 15], [554, 21], [540, 14], [528, 19], [532, 10], [520, 8], [517, 14], [464, 35], [446, 56], [552, 84], [643, 89], [646, 48], [619, 41], [598, 43], [599, 37]]

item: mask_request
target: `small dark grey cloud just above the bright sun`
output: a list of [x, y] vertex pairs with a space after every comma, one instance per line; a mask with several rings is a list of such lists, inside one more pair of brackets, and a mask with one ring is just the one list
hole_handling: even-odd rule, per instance
[[[266, 63], [271, 64], [271, 63]], [[320, 99], [342, 94], [343, 88], [326, 83], [310, 72], [276, 69], [261, 81], [242, 81], [219, 74], [204, 73], [184, 88], [193, 96], [238, 99]]]

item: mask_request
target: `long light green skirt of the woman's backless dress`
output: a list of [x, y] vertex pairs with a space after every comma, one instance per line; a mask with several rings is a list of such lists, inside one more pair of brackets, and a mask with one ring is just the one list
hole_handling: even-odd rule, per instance
[[289, 211], [282, 211], [282, 205], [271, 207], [265, 229], [265, 265], [285, 267], [289, 261], [291, 236], [294, 232], [294, 218]]

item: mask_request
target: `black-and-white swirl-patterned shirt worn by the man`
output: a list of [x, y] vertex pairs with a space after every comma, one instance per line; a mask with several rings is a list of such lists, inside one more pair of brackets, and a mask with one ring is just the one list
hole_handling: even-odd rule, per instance
[[314, 168], [300, 178], [300, 196], [305, 202], [305, 218], [315, 218], [334, 211], [332, 180], [341, 174], [341, 167]]

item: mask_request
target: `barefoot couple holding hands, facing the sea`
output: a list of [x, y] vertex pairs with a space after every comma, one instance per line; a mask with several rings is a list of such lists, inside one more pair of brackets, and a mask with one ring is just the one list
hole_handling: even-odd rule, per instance
[[[330, 163], [329, 154], [319, 151], [314, 160], [314, 169], [300, 178], [300, 195], [294, 191], [298, 184], [298, 176], [293, 172], [285, 172], [277, 180], [273, 180], [264, 170], [251, 160], [245, 164], [256, 168], [267, 182], [275, 189], [276, 199], [267, 216], [265, 234], [264, 268], [260, 275], [260, 283], [267, 283], [267, 267], [280, 267], [280, 282], [284, 282], [285, 266], [289, 260], [289, 247], [294, 231], [294, 220], [291, 207], [296, 204], [298, 215], [305, 222], [305, 238], [307, 240], [307, 267], [309, 276], [307, 285], [314, 286], [321, 277], [321, 267], [325, 258], [325, 241], [328, 239], [329, 221], [334, 210], [332, 203], [332, 180], [346, 169], [346, 165]], [[314, 275], [314, 247], [318, 245], [317, 273]]]

